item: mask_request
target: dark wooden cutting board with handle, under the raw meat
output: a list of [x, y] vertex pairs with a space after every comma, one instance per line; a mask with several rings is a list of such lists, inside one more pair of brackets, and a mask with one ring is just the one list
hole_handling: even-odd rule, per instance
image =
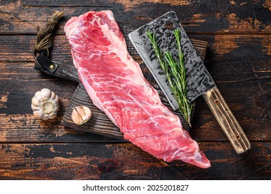
[[[204, 61], [206, 50], [207, 50], [207, 42], [197, 40], [197, 39], [191, 39], [191, 42], [193, 43], [193, 46], [195, 46], [195, 49], [198, 51], [198, 54], [200, 55], [200, 58]], [[134, 59], [137, 60], [137, 59]], [[137, 60], [140, 64], [140, 59]], [[123, 139], [123, 133], [119, 130], [116, 125], [110, 121], [110, 119], [105, 115], [104, 112], [100, 111], [89, 98], [87, 91], [85, 90], [84, 86], [80, 83], [78, 79], [78, 74], [76, 71], [76, 68], [73, 66], [72, 62], [70, 64], [58, 64], [58, 69], [54, 73], [51, 73], [49, 71], [46, 71], [43, 69], [39, 62], [35, 62], [35, 69], [42, 71], [44, 73], [47, 73], [51, 76], [57, 76], [60, 78], [65, 78], [67, 80], [73, 80], [76, 82], [79, 82], [78, 87], [76, 88], [76, 91], [74, 92], [73, 96], [71, 97], [71, 102], [69, 103], [66, 112], [64, 113], [64, 116], [62, 118], [61, 124], [67, 127], [70, 127], [75, 130], [82, 130], [85, 132], [92, 132], [95, 134], [101, 134], [105, 136], [110, 136], [118, 139]], [[155, 82], [155, 78], [152, 77], [152, 74], [148, 70], [148, 68], [142, 64], [141, 70], [143, 72], [144, 77], [150, 82], [152, 87], [157, 89], [158, 94], [161, 98], [162, 103], [166, 105], [169, 109], [171, 109], [171, 105], [169, 105], [168, 101], [166, 100], [166, 97], [164, 96], [161, 89], [159, 89], [159, 86]], [[73, 123], [71, 119], [71, 112], [73, 111], [73, 108], [76, 106], [86, 106], [91, 109], [92, 116], [91, 119], [85, 123], [84, 125], [76, 125]], [[172, 110], [172, 109], [171, 109]], [[178, 111], [173, 111], [177, 116], [180, 117], [180, 120], [182, 121], [182, 125], [184, 129], [189, 129], [188, 123], [184, 120], [182, 114]]]

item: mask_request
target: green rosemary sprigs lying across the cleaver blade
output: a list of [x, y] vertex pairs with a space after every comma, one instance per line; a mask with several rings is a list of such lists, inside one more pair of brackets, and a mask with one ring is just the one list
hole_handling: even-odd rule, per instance
[[[178, 51], [179, 62], [173, 59], [171, 52], [166, 51], [162, 54], [159, 46], [157, 46], [157, 37], [154, 33], [147, 33], [150, 42], [152, 43], [153, 50], [161, 69], [164, 71], [168, 80], [168, 85], [174, 94], [174, 97], [179, 105], [179, 111], [184, 116], [184, 119], [189, 123], [191, 127], [191, 112], [192, 105], [187, 98], [187, 83], [186, 83], [186, 71], [184, 67], [184, 55], [182, 53], [182, 47], [180, 43], [180, 29], [174, 30], [176, 39], [176, 48]], [[164, 55], [164, 56], [163, 56]]]

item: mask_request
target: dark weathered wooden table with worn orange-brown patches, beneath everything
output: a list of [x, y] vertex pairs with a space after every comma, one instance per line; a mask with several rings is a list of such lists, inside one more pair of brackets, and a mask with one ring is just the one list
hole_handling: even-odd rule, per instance
[[[0, 1], [0, 179], [271, 179], [271, 1]], [[193, 139], [211, 160], [200, 169], [166, 163], [132, 143], [60, 125], [77, 84], [34, 67], [35, 35], [63, 10], [53, 60], [71, 63], [67, 19], [112, 10], [125, 37], [174, 10], [189, 37], [209, 42], [205, 64], [252, 143], [237, 155], [213, 114], [197, 99]], [[142, 64], [128, 42], [134, 59]], [[34, 118], [31, 98], [44, 87], [60, 96], [51, 121]]]

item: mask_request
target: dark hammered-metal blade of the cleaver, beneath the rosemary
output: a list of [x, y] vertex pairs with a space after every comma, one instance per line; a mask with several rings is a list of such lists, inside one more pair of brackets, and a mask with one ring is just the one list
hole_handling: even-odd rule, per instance
[[200, 56], [195, 51], [184, 28], [182, 28], [182, 25], [177, 19], [175, 12], [167, 12], [165, 15], [162, 15], [129, 34], [132, 44], [137, 49], [148, 69], [150, 69], [159, 87], [174, 109], [178, 108], [177, 102], [171, 92], [171, 88], [168, 86], [166, 76], [164, 76], [164, 73], [161, 70], [155, 52], [152, 49], [147, 32], [150, 30], [155, 33], [161, 50], [171, 51], [171, 53], [173, 53], [173, 58], [177, 60], [177, 49], [175, 48], [175, 37], [173, 34], [173, 31], [176, 28], [180, 28], [181, 32], [181, 45], [184, 53], [184, 66], [186, 67], [187, 96], [192, 102], [205, 91], [215, 87], [216, 84], [213, 82], [204, 63], [200, 59]]

